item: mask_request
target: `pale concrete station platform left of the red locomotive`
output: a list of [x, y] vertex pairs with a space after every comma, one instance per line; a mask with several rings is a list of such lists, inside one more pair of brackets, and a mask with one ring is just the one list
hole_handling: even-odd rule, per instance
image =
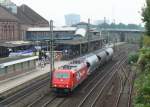
[[[69, 61], [56, 61], [55, 68], [65, 65], [69, 63]], [[3, 93], [7, 92], [8, 90], [14, 89], [15, 87], [27, 83], [34, 78], [37, 78], [41, 75], [44, 75], [50, 71], [50, 65], [47, 64], [44, 68], [37, 67], [35, 70], [27, 72], [22, 75], [18, 75], [13, 78], [9, 78], [4, 81], [0, 81], [0, 95], [2, 96]]]

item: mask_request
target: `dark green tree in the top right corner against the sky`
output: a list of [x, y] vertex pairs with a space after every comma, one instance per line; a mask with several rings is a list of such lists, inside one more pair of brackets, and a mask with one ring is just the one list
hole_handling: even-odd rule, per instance
[[150, 36], [150, 0], [146, 0], [146, 6], [142, 9], [142, 20], [145, 22], [146, 33]]

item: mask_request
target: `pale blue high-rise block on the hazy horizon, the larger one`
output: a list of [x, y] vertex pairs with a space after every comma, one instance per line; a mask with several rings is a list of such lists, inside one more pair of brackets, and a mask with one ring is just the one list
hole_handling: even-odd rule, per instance
[[67, 14], [65, 15], [66, 25], [71, 26], [80, 22], [80, 15], [78, 14]]

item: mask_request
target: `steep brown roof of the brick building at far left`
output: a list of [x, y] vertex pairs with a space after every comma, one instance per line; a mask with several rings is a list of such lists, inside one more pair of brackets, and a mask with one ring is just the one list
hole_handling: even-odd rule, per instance
[[27, 5], [17, 7], [17, 14], [0, 5], [0, 20], [12, 20], [31, 26], [47, 27], [49, 22]]

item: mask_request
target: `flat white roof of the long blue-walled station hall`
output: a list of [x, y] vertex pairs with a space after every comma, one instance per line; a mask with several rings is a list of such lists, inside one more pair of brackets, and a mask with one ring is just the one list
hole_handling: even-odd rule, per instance
[[[76, 27], [54, 27], [53, 31], [75, 31]], [[30, 27], [27, 31], [50, 31], [49, 27]]]

